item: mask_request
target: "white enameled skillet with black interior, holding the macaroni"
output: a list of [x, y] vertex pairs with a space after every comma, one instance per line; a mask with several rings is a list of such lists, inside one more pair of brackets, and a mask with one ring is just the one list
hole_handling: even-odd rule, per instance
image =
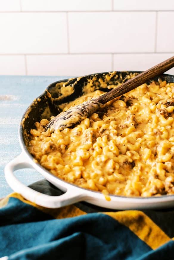
[[[122, 83], [131, 73], [140, 72], [119, 71], [113, 73], [111, 81], [113, 81], [113, 84], [118, 83], [118, 81]], [[105, 78], [106, 74], [108, 73], [95, 74], [96, 81], [98, 78]], [[35, 163], [32, 155], [29, 154], [26, 148], [28, 141], [27, 134], [29, 133], [29, 130], [34, 127], [34, 123], [36, 121], [40, 121], [42, 118], [50, 119], [50, 115], [57, 115], [60, 112], [58, 105], [72, 101], [75, 98], [81, 96], [83, 94], [83, 86], [88, 83], [88, 79], [92, 79], [93, 77], [94, 74], [78, 78], [78, 80], [77, 78], [73, 78], [54, 82], [47, 87], [43, 94], [41, 94], [38, 98], [36, 98], [36, 100], [33, 101], [29, 108], [27, 108], [27, 111], [24, 113], [24, 116], [22, 117], [19, 125], [19, 142], [22, 152], [18, 157], [8, 163], [4, 170], [5, 178], [8, 184], [15, 192], [20, 193], [24, 198], [47, 208], [59, 208], [78, 201], [86, 201], [88, 203], [108, 209], [159, 209], [173, 207], [174, 195], [163, 195], [148, 198], [110, 195], [111, 200], [108, 201], [100, 192], [80, 188], [76, 185], [65, 182], [58, 177], [55, 177], [41, 165]], [[167, 82], [174, 82], [173, 75], [163, 74], [158, 78], [161, 78], [163, 81], [166, 80]], [[154, 80], [157, 81], [158, 78], [155, 78]], [[56, 84], [67, 81], [67, 85], [71, 85], [72, 88], [74, 88], [74, 92], [70, 96], [63, 99], [56, 99], [58, 96], [60, 96], [60, 91], [57, 87], [58, 85], [56, 86]], [[101, 90], [108, 91], [108, 89]], [[22, 168], [34, 168], [36, 171], [41, 173], [45, 179], [47, 179], [65, 193], [60, 196], [49, 196], [25, 186], [15, 177], [13, 173], [15, 170]]]

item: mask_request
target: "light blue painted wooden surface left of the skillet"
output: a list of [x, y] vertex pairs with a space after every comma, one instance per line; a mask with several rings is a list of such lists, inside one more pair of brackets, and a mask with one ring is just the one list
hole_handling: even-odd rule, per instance
[[[11, 193], [4, 177], [4, 167], [21, 153], [18, 125], [21, 117], [45, 88], [52, 82], [69, 78], [58, 76], [0, 76], [0, 198]], [[32, 169], [16, 171], [26, 185], [43, 179]]]

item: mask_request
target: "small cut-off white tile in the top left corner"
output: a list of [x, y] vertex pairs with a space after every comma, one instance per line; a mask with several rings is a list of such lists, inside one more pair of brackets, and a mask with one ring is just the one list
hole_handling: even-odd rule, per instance
[[20, 10], [20, 0], [0, 0], [0, 12], [12, 12]]

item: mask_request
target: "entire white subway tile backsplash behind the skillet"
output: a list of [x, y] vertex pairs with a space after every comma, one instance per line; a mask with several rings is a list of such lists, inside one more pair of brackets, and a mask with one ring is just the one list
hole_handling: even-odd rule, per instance
[[174, 0], [0, 0], [0, 75], [146, 70], [174, 55], [173, 17]]

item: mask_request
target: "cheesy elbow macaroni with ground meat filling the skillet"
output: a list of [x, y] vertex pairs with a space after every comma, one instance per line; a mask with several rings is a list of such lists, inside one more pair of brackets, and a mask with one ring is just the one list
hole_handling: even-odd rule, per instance
[[[104, 92], [66, 104], [64, 111]], [[28, 150], [61, 179], [105, 195], [174, 194], [174, 83], [152, 82], [114, 99], [74, 128], [31, 129]]]

